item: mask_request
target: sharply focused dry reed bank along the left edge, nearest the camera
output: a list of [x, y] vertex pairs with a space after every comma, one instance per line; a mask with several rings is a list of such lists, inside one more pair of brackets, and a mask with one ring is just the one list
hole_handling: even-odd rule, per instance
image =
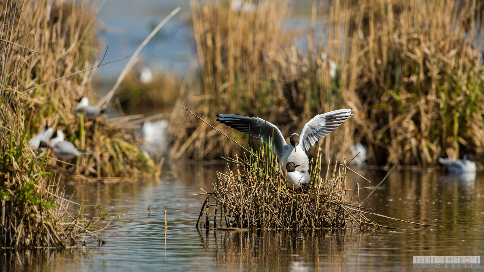
[[28, 37], [34, 35], [24, 24], [36, 12], [42, 13], [36, 10], [42, 3], [46, 4], [0, 1], [0, 244], [65, 248], [87, 236], [104, 243], [92, 227], [105, 216], [85, 222], [78, 214], [69, 214], [69, 204], [75, 202], [64, 198], [52, 174], [45, 171], [45, 157], [38, 158], [27, 146], [26, 105], [31, 100], [19, 90], [31, 81], [27, 71], [34, 70], [40, 53], [29, 47], [33, 44]]

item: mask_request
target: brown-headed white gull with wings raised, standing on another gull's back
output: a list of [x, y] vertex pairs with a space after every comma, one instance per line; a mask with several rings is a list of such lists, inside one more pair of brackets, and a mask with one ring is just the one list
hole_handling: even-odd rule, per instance
[[[309, 159], [306, 151], [313, 146], [319, 138], [328, 135], [340, 124], [348, 120], [354, 113], [352, 109], [338, 109], [327, 113], [316, 115], [307, 122], [301, 133], [293, 133], [290, 139], [290, 146], [279, 128], [261, 118], [249, 117], [238, 114], [219, 114], [217, 121], [241, 131], [247, 135], [257, 137], [266, 145], [269, 145], [269, 136], [272, 138], [272, 149], [279, 158], [279, 167], [285, 166], [288, 162], [298, 164], [297, 171], [309, 171]], [[302, 143], [301, 145], [299, 143]]]

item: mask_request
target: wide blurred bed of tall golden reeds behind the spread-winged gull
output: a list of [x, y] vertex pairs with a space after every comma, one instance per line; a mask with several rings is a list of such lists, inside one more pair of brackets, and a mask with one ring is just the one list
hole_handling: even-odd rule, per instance
[[[242, 134], [217, 126], [212, 116], [256, 116], [289, 135], [316, 114], [348, 107], [353, 118], [319, 140], [326, 163], [348, 157], [357, 142], [371, 164], [430, 166], [440, 156], [464, 154], [484, 161], [482, 1], [315, 4], [307, 51], [287, 43], [294, 36], [280, 30], [285, 3], [264, 1], [255, 12], [191, 3], [202, 83], [186, 84], [179, 104], [239, 142]], [[221, 136], [209, 140], [205, 125], [186, 114], [175, 107], [173, 157], [241, 151]]]

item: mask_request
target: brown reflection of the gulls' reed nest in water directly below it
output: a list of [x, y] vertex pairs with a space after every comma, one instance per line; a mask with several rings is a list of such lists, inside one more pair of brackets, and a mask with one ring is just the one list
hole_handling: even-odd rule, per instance
[[321, 266], [337, 271], [347, 261], [348, 237], [344, 231], [325, 230], [200, 232], [217, 268], [228, 271], [319, 271]]

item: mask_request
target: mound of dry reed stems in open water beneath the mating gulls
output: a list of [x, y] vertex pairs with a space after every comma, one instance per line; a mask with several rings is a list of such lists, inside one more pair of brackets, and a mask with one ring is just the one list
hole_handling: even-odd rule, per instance
[[[318, 148], [316, 160], [310, 163], [311, 181], [296, 190], [287, 186], [285, 174], [270, 148], [259, 148], [243, 159], [238, 156], [226, 159], [237, 168], [217, 172], [213, 192], [207, 193], [209, 196], [200, 211], [200, 225], [205, 211], [206, 228], [224, 229], [224, 221], [226, 227], [251, 229], [386, 227], [367, 218], [368, 212], [361, 210], [361, 205], [374, 191], [360, 202], [359, 188], [346, 189], [349, 169], [346, 159], [324, 170], [321, 169], [321, 151]], [[210, 206], [214, 206], [212, 212]]]

